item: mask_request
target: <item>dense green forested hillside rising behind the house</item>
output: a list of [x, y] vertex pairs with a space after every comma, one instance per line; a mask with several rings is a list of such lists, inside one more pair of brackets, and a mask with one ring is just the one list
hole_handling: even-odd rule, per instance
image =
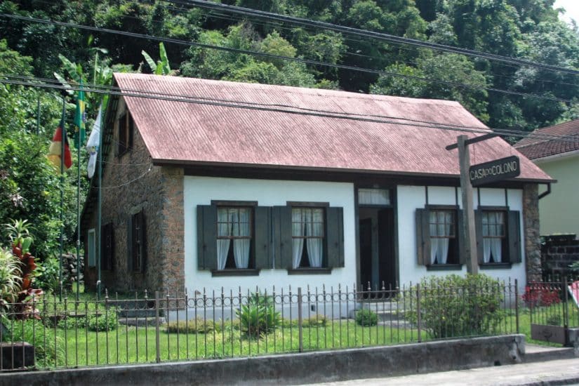
[[[558, 20], [553, 3], [554, 0], [222, 1], [226, 5], [579, 69], [578, 29]], [[72, 83], [82, 78], [85, 84], [107, 84], [111, 69], [154, 72], [154, 63], [149, 65], [142, 54], [145, 51], [153, 60], [168, 58], [168, 62], [159, 61], [162, 68], [157, 72], [161, 74], [458, 100], [493, 128], [530, 131], [579, 117], [579, 79], [572, 72], [437, 51], [307, 23], [298, 25], [198, 8], [186, 0], [2, 1], [0, 13], [0, 76], [12, 76], [12, 80], [13, 76], [26, 76], [29, 82], [34, 76], [37, 80], [56, 81], [56, 73], [60, 80]], [[164, 41], [166, 53], [159, 52], [159, 40], [150, 36], [170, 39]], [[57, 190], [43, 190], [26, 181], [22, 174], [7, 173], [6, 162], [18, 159], [23, 164], [32, 159], [41, 163], [60, 119], [61, 94], [50, 88], [15, 84], [0, 84], [0, 93], [0, 158], [8, 157], [7, 149], [13, 157], [0, 160], [0, 217], [27, 218], [39, 207], [48, 211], [44, 204], [34, 202], [53, 201]], [[69, 102], [70, 111], [74, 109], [72, 95]], [[89, 123], [99, 102], [100, 96], [88, 95]], [[87, 128], [90, 129], [89, 124]], [[36, 131], [39, 137], [29, 136], [36, 135]], [[28, 146], [37, 151], [29, 152]], [[27, 187], [31, 184], [34, 186]], [[46, 182], [46, 186], [53, 185]], [[35, 199], [22, 195], [29, 191], [35, 192]], [[68, 199], [72, 205], [72, 196]], [[59, 224], [47, 215], [43, 229], [52, 232]]]

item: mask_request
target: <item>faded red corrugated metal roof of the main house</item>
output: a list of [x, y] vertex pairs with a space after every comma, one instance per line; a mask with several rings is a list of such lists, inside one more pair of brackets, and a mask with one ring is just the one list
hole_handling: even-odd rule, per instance
[[[126, 96], [135, 124], [158, 162], [458, 175], [457, 150], [444, 147], [456, 142], [460, 132], [387, 117], [486, 128], [458, 102], [446, 100], [147, 74], [114, 78], [124, 93], [140, 90], [229, 101], [208, 105]], [[327, 114], [307, 115], [319, 111]], [[344, 113], [390, 123], [331, 116]], [[500, 138], [471, 147], [472, 164], [510, 155], [521, 157], [519, 178], [550, 180]]]

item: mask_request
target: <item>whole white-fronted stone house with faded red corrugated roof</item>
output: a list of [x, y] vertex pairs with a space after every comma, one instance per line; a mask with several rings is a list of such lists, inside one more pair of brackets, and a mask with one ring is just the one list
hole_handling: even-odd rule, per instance
[[[458, 155], [445, 146], [465, 133], [451, 128], [486, 126], [458, 102], [145, 74], [114, 81], [104, 286], [394, 287], [466, 272]], [[493, 138], [472, 145], [471, 161], [512, 154]], [[551, 181], [521, 156], [518, 178], [474, 189], [483, 272], [521, 285], [538, 278], [538, 184]], [[89, 287], [95, 192], [83, 215]]]

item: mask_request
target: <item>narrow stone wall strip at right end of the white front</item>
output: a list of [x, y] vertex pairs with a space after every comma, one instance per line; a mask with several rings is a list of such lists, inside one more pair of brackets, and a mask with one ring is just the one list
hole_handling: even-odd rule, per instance
[[527, 282], [539, 281], [541, 279], [541, 240], [538, 184], [525, 184], [523, 187], [523, 229]]

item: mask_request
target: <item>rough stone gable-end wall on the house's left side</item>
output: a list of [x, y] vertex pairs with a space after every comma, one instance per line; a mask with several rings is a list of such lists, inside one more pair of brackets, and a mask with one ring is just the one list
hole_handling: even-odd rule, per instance
[[[117, 117], [124, 103], [119, 101]], [[103, 165], [102, 225], [114, 227], [112, 271], [101, 271], [102, 288], [109, 291], [166, 290], [185, 288], [183, 171], [153, 166], [135, 122], [133, 147], [117, 156], [117, 119], [112, 148]], [[128, 219], [143, 210], [146, 232], [145, 272], [128, 271]], [[91, 227], [96, 228], [96, 210]], [[84, 231], [86, 239], [86, 230]], [[85, 265], [86, 266], [86, 265]], [[95, 288], [96, 269], [85, 270], [86, 286]]]

